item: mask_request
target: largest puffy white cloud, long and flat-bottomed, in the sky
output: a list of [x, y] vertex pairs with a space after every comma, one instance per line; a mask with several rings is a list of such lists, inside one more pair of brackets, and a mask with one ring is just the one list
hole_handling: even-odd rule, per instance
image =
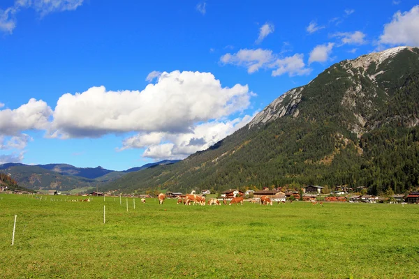
[[142, 91], [91, 87], [57, 101], [51, 137], [100, 137], [107, 133], [189, 130], [194, 123], [221, 119], [247, 109], [247, 85], [222, 87], [212, 73], [163, 72]]

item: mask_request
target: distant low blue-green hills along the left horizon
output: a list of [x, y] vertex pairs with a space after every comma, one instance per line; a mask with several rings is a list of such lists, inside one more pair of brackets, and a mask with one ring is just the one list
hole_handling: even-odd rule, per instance
[[96, 188], [114, 181], [128, 172], [138, 172], [155, 165], [176, 163], [176, 160], [163, 160], [142, 167], [133, 167], [121, 172], [104, 169], [103, 167], [75, 167], [68, 164], [24, 165], [21, 163], [6, 163], [0, 165], [0, 170], [10, 174], [19, 185], [27, 188], [72, 190], [75, 188]]

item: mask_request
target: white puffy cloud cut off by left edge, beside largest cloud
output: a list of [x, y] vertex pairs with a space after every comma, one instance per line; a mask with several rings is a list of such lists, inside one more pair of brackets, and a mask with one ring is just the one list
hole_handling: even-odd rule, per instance
[[47, 103], [34, 98], [15, 110], [0, 110], [0, 134], [17, 135], [22, 130], [45, 130], [51, 114]]

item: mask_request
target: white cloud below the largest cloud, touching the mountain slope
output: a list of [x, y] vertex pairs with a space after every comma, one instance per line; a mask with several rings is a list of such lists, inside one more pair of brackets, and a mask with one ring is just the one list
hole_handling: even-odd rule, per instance
[[[256, 115], [253, 114], [253, 116]], [[202, 151], [210, 146], [216, 144], [223, 138], [231, 135], [236, 130], [244, 127], [253, 119], [253, 116], [246, 115], [242, 118], [233, 119], [232, 121], [212, 121], [203, 123], [193, 127], [189, 133], [176, 133], [176, 134], [160, 134], [156, 137], [152, 136], [149, 143], [150, 145], [145, 149], [142, 154], [143, 157], [152, 158], [154, 160], [163, 159], [184, 159], [196, 151]], [[147, 135], [139, 135], [145, 138]], [[134, 136], [131, 138], [138, 138]], [[128, 138], [124, 142], [135, 142]], [[142, 148], [140, 146], [125, 146], [127, 148]], [[124, 147], [122, 148], [124, 149]]]

